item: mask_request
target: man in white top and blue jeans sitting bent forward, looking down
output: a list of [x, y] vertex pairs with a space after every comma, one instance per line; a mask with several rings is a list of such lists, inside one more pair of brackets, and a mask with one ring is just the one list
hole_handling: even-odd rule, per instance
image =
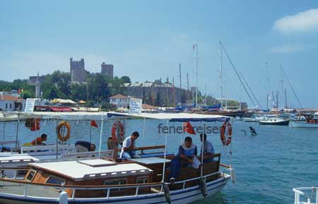
[[120, 152], [120, 157], [125, 159], [140, 158], [140, 155], [136, 154], [135, 140], [139, 137], [139, 133], [134, 131], [130, 137], [126, 138], [122, 143], [122, 152]]

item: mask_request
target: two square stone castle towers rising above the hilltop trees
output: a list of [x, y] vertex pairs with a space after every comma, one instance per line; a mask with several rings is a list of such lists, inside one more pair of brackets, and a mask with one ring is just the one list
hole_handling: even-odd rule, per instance
[[[79, 61], [73, 60], [73, 58], [69, 59], [70, 64], [70, 74], [71, 74], [71, 82], [75, 83], [85, 83], [87, 76], [93, 75], [89, 71], [86, 71], [85, 69], [85, 61], [82, 58]], [[106, 76], [113, 78], [114, 77], [114, 65], [112, 64], [105, 64], [103, 62], [101, 64], [101, 72], [102, 74], [105, 74]]]

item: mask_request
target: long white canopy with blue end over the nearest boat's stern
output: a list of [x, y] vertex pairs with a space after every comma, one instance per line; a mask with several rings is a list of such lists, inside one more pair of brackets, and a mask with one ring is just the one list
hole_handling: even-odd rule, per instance
[[186, 122], [186, 121], [229, 121], [231, 117], [220, 116], [220, 115], [209, 115], [209, 114], [188, 114], [188, 113], [141, 113], [141, 114], [129, 114], [129, 113], [118, 113], [118, 112], [108, 112], [107, 117], [112, 116], [136, 116], [148, 119], [165, 119], [171, 122]]

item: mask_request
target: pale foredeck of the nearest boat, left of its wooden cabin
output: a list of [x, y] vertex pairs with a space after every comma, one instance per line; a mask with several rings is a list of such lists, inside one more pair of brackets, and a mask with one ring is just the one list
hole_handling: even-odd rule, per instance
[[[1, 193], [9, 193], [23, 196], [25, 186], [22, 184], [14, 184], [6, 181], [0, 181], [0, 191]], [[52, 188], [30, 185], [28, 186], [28, 196], [43, 198], [59, 198], [59, 192], [54, 191]]]

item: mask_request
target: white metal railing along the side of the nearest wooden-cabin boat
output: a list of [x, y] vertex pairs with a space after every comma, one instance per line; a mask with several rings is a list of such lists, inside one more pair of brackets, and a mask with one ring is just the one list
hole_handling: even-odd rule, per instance
[[[11, 168], [13, 169], [13, 168]], [[107, 199], [107, 198], [114, 198], [114, 197], [122, 197], [122, 196], [146, 196], [146, 195], [158, 195], [158, 194], [163, 194], [164, 185], [174, 185], [174, 184], [181, 184], [182, 188], [178, 188], [176, 190], [182, 190], [185, 188], [192, 188], [194, 186], [187, 186], [186, 184], [190, 181], [195, 181], [195, 180], [200, 180], [200, 179], [204, 179], [204, 181], [207, 181], [209, 177], [214, 176], [216, 174], [221, 174], [222, 176], [224, 176], [224, 172], [223, 170], [220, 170], [219, 172], [214, 172], [212, 174], [206, 174], [204, 176], [199, 176], [196, 178], [192, 178], [192, 179], [187, 179], [184, 181], [176, 181], [174, 183], [163, 183], [163, 182], [158, 182], [158, 183], [146, 183], [146, 184], [124, 184], [124, 185], [108, 185], [108, 186], [76, 186], [76, 185], [64, 185], [64, 184], [42, 184], [42, 183], [35, 183], [35, 182], [30, 182], [30, 181], [20, 181], [17, 179], [0, 179], [1, 182], [6, 182], [6, 183], [10, 183], [10, 184], [16, 184], [16, 185], [20, 185], [23, 186], [23, 191], [20, 192], [20, 194], [14, 194], [14, 193], [3, 193], [0, 191], [0, 194], [8, 194], [11, 196], [24, 196], [24, 197], [38, 197], [35, 195], [30, 195], [28, 192], [28, 188], [30, 188], [30, 186], [42, 186], [45, 188], [51, 188], [53, 191], [69, 191], [71, 192], [71, 195], [69, 195], [69, 199], [81, 199], [81, 197], [77, 197], [76, 196], [76, 192], [78, 191], [93, 191], [93, 190], [103, 190], [105, 192], [105, 196], [102, 197], [98, 197], [98, 198], [83, 198], [83, 199]], [[213, 180], [211, 180], [213, 181]], [[208, 181], [210, 182], [210, 181]], [[198, 183], [199, 185], [199, 183]], [[129, 192], [129, 194], [122, 194], [122, 195], [112, 195], [112, 191], [118, 191], [118, 190], [122, 190], [124, 189], [124, 192], [127, 193]], [[45, 197], [48, 198], [48, 197]], [[56, 199], [56, 198], [54, 198]]]

